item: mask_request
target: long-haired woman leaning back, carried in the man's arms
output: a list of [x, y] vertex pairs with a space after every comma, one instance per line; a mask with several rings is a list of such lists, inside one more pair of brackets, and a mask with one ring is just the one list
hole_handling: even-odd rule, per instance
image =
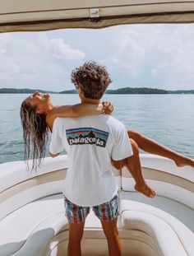
[[[25, 141], [25, 160], [33, 158], [32, 170], [37, 169], [45, 156], [46, 142], [49, 130], [52, 132], [53, 122], [57, 117], [80, 117], [94, 114], [111, 114], [113, 106], [109, 102], [104, 105], [77, 104], [54, 105], [50, 95], [35, 92], [27, 97], [21, 104], [21, 124]], [[155, 197], [155, 191], [146, 184], [141, 173], [139, 148], [151, 154], [167, 157], [178, 166], [190, 165], [194, 167], [194, 161], [170, 150], [145, 137], [141, 133], [128, 130], [128, 136], [132, 144], [133, 156], [123, 161], [113, 161], [113, 165], [119, 169], [126, 165], [135, 179], [135, 189], [147, 197]]]

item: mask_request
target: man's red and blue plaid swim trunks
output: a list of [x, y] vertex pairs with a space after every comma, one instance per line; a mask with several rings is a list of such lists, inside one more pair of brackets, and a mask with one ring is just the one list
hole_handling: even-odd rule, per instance
[[[64, 197], [67, 220], [72, 223], [81, 223], [85, 221], [86, 216], [90, 212], [90, 207], [80, 207], [70, 202]], [[92, 207], [95, 216], [100, 221], [112, 221], [119, 215], [118, 210], [118, 194], [116, 194], [109, 202], [104, 202]]]

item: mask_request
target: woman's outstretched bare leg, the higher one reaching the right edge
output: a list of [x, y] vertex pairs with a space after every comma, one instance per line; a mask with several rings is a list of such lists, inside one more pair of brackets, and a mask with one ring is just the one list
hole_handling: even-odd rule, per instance
[[138, 147], [141, 148], [141, 150], [146, 151], [150, 154], [167, 157], [173, 160], [175, 164], [178, 165], [179, 167], [184, 165], [190, 165], [194, 167], [193, 159], [187, 156], [182, 156], [181, 154], [178, 154], [176, 151], [172, 151], [171, 149], [169, 149], [169, 147], [164, 147], [158, 142], [155, 142], [149, 137], [146, 137], [136, 131], [128, 130], [127, 133], [128, 136], [136, 142]]

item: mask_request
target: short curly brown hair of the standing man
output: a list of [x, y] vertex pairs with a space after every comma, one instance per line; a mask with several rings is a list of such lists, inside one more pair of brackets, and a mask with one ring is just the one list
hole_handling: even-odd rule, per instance
[[112, 81], [106, 68], [95, 62], [84, 63], [72, 71], [72, 83], [81, 86], [85, 98], [99, 100]]

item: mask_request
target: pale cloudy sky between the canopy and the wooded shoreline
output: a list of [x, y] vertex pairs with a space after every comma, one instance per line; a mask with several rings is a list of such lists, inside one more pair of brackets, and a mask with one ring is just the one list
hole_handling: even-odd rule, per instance
[[194, 24], [0, 34], [0, 88], [71, 90], [86, 61], [107, 67], [109, 89], [194, 90]]

